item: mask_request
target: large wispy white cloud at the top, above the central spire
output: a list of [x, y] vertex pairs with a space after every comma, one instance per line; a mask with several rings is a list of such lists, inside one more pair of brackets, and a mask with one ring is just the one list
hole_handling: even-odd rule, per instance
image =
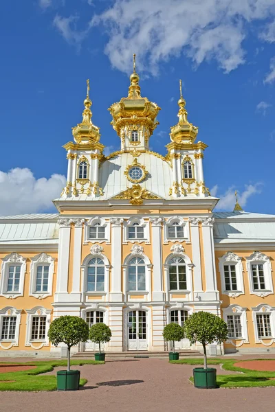
[[93, 17], [91, 27], [107, 27], [105, 52], [113, 67], [126, 73], [133, 53], [138, 70], [154, 75], [160, 62], [181, 54], [195, 66], [217, 60], [229, 73], [245, 62], [247, 23], [274, 12], [274, 0], [115, 0]]

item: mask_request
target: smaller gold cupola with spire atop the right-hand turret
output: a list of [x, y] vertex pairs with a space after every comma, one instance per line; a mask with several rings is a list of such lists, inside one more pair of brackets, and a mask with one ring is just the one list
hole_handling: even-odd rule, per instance
[[193, 126], [192, 123], [188, 122], [187, 111], [185, 108], [186, 101], [184, 100], [182, 95], [181, 80], [179, 80], [179, 93], [180, 98], [177, 102], [177, 104], [179, 105], [179, 113], [177, 115], [179, 117], [179, 122], [177, 122], [175, 126], [170, 128], [170, 139], [177, 144], [192, 144], [197, 137], [198, 128], [196, 126]]

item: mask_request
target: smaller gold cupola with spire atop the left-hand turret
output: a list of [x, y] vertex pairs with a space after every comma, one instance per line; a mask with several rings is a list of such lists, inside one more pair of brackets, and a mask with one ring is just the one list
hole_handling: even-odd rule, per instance
[[72, 128], [74, 140], [77, 144], [96, 143], [100, 139], [99, 127], [91, 122], [91, 99], [89, 98], [89, 79], [87, 80], [87, 96], [84, 100], [83, 121]]

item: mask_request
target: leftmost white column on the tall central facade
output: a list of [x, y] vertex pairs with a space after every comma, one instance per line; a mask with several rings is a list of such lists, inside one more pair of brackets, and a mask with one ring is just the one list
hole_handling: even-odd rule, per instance
[[58, 269], [56, 279], [55, 301], [61, 301], [61, 294], [68, 293], [69, 275], [69, 241], [71, 235], [71, 219], [61, 218], [59, 224]]

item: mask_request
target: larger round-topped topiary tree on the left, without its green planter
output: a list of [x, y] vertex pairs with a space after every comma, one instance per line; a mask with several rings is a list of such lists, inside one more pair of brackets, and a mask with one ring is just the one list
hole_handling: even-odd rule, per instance
[[89, 326], [78, 316], [61, 316], [52, 321], [47, 336], [54, 346], [58, 346], [61, 342], [67, 345], [67, 371], [70, 371], [71, 347], [89, 339]]

